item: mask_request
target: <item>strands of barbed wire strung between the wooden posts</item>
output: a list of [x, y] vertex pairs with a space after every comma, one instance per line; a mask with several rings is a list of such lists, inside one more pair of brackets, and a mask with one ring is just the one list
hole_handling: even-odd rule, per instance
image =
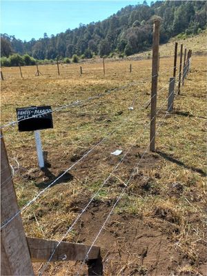
[[[171, 69], [171, 68], [170, 68]], [[184, 70], [186, 70], [186, 68], [184, 68]], [[158, 77], [158, 75], [153, 75], [152, 77], [148, 77], [146, 79], [142, 79], [141, 81], [148, 81], [149, 79], [153, 79], [154, 77]], [[175, 81], [175, 84], [177, 87], [179, 87], [179, 84], [180, 82], [182, 81], [181, 79], [181, 72], [179, 72], [179, 75], [177, 76], [178, 78], [178, 81], [175, 79], [175, 80], [172, 80], [172, 81]], [[116, 91], [119, 91], [119, 90], [124, 90], [126, 88], [129, 88], [130, 86], [136, 86], [138, 83], [140, 83], [141, 81], [133, 81], [132, 83], [128, 83], [127, 85], [125, 86], [119, 86], [118, 88], [114, 88], [114, 89], [110, 89], [110, 90], [107, 90], [106, 92], [103, 92], [103, 93], [99, 93], [98, 95], [95, 95], [95, 96], [91, 96], [91, 97], [88, 97], [87, 99], [82, 99], [82, 100], [77, 100], [77, 101], [73, 101], [73, 102], [70, 102], [70, 103], [67, 103], [63, 106], [58, 106], [56, 108], [53, 108], [52, 109], [52, 112], [58, 112], [60, 110], [63, 110], [63, 109], [66, 109], [66, 108], [71, 108], [73, 106], [81, 106], [82, 104], [86, 104], [90, 101], [93, 101], [95, 99], [101, 99], [102, 97], [110, 94], [111, 92], [116, 92]], [[172, 83], [172, 81], [170, 81], [170, 83]], [[159, 93], [166, 90], [166, 88], [169, 86], [168, 83], [166, 86], [163, 86], [162, 88], [159, 89]], [[175, 87], [176, 87], [175, 86]], [[163, 103], [161, 103], [161, 106], [159, 106], [159, 109], [157, 110], [156, 112], [156, 115], [159, 115], [159, 113], [161, 112], [161, 110], [164, 108], [164, 106], [166, 106], [166, 101], [168, 101], [168, 99], [171, 97], [172, 93], [175, 95], [175, 97], [177, 96], [178, 94], [178, 91], [175, 92], [175, 90], [173, 90], [166, 99], [164, 99]], [[136, 96], [136, 94], [135, 94]], [[155, 97], [155, 95], [153, 96]], [[61, 177], [63, 177], [63, 175], [66, 175], [66, 173], [69, 171], [69, 170], [72, 170], [72, 168], [75, 168], [75, 166], [77, 166], [79, 163], [81, 163], [84, 159], [86, 159], [86, 157], [88, 157], [88, 155], [90, 155], [97, 147], [99, 147], [101, 144], [103, 144], [103, 142], [105, 142], [106, 140], [109, 139], [109, 137], [114, 134], [115, 132], [117, 132], [119, 129], [121, 129], [122, 126], [124, 126], [124, 124], [126, 124], [128, 122], [129, 119], [131, 119], [131, 117], [135, 117], [135, 115], [137, 115], [137, 112], [138, 111], [141, 111], [141, 110], [145, 110], [146, 109], [146, 106], [148, 106], [150, 104], [150, 102], [152, 101], [152, 98], [153, 97], [150, 97], [150, 99], [148, 99], [146, 102], [144, 102], [144, 104], [142, 104], [141, 106], [139, 106], [139, 108], [137, 108], [137, 110], [135, 110], [135, 112], [133, 112], [133, 114], [129, 115], [128, 118], [126, 119], [123, 119], [123, 121], [121, 122], [121, 124], [115, 126], [115, 128], [108, 132], [108, 134], [106, 136], [104, 136], [103, 138], [101, 138], [100, 141], [98, 141], [94, 146], [92, 146], [90, 148], [90, 150], [88, 150], [80, 159], [78, 159], [77, 161], [75, 161], [74, 164], [72, 164], [72, 166], [68, 167], [61, 175], [59, 175], [59, 177], [57, 177], [55, 180], [52, 181], [52, 183], [50, 183], [48, 186], [46, 186], [46, 188], [44, 188], [43, 190], [41, 190], [37, 195], [35, 195], [30, 201], [28, 201], [28, 203], [23, 206], [23, 208], [21, 208], [16, 214], [14, 214], [14, 216], [8, 218], [6, 221], [3, 221], [1, 222], [1, 229], [5, 228], [6, 226], [8, 226], [10, 224], [10, 222], [15, 219], [16, 217], [18, 217], [21, 213], [23, 213], [30, 205], [32, 205], [35, 201], [37, 201], [37, 199], [39, 199], [39, 197], [41, 197], [41, 195], [43, 195], [44, 193], [46, 193], [46, 191], [48, 190], [48, 188], [50, 188], [51, 186], [54, 186], [55, 183], [57, 183], [57, 181], [59, 179], [61, 179]], [[134, 100], [135, 100], [135, 97], [134, 97]], [[171, 103], [172, 105], [172, 103]], [[170, 106], [171, 107], [171, 106]], [[43, 113], [42, 115], [46, 114], [46, 113], [51, 113], [50, 112], [45, 112]], [[155, 135], [157, 135], [157, 133], [159, 132], [158, 130], [161, 128], [162, 124], [163, 124], [163, 121], [164, 119], [166, 118], [166, 116], [169, 114], [169, 111], [167, 111], [163, 117], [161, 117], [161, 122], [155, 132]], [[37, 116], [37, 115], [36, 115]], [[33, 117], [36, 117], [35, 115]], [[153, 117], [152, 119], [150, 119], [150, 121], [144, 125], [144, 127], [142, 128], [143, 131], [145, 132], [147, 130], [147, 127], [150, 125], [150, 123], [152, 122], [153, 119], [155, 119], [155, 117]], [[26, 118], [28, 119], [28, 118]], [[20, 121], [24, 121], [26, 119], [20, 119], [20, 120], [17, 120], [17, 121], [10, 121], [8, 122], [7, 124], [4, 124], [3, 126], [1, 126], [1, 128], [8, 128], [10, 126], [14, 126], [15, 124], [19, 124]], [[142, 121], [142, 120], [140, 120]], [[136, 124], [139, 123], [139, 121], [136, 121]], [[152, 137], [152, 139], [154, 139], [154, 137]], [[135, 146], [135, 144], [137, 143], [137, 140], [140, 139], [140, 136], [138, 135], [137, 139], [135, 139], [135, 141], [133, 141], [130, 146], [128, 147], [128, 149], [126, 150], [126, 152], [124, 153], [123, 157], [121, 157], [121, 159], [117, 162], [117, 164], [115, 164], [114, 168], [112, 168], [112, 171], [109, 173], [108, 177], [106, 177], [106, 179], [103, 181], [103, 183], [99, 186], [98, 190], [96, 191], [96, 193], [94, 193], [92, 195], [92, 197], [90, 198], [90, 200], [88, 201], [88, 203], [86, 204], [86, 206], [83, 208], [83, 210], [81, 210], [81, 213], [79, 213], [79, 215], [77, 215], [76, 219], [72, 222], [72, 224], [70, 225], [70, 227], [68, 228], [68, 230], [66, 231], [66, 233], [63, 234], [63, 236], [61, 237], [61, 239], [59, 239], [59, 242], [57, 243], [57, 246], [55, 246], [55, 249], [52, 251], [52, 254], [50, 255], [50, 258], [48, 259], [48, 262], [46, 262], [46, 264], [41, 268], [41, 271], [39, 272], [39, 275], [43, 275], [43, 272], [46, 270], [46, 268], [48, 267], [48, 264], [50, 263], [53, 255], [55, 254], [57, 248], [59, 247], [59, 245], [61, 244], [61, 242], [63, 241], [63, 239], [66, 238], [66, 236], [72, 231], [72, 229], [74, 228], [75, 224], [77, 224], [77, 221], [79, 221], [80, 217], [83, 215], [83, 213], [86, 212], [87, 208], [90, 206], [90, 204], [92, 203], [92, 201], [94, 201], [95, 197], [97, 197], [97, 195], [99, 195], [99, 192], [101, 190], [101, 188], [103, 188], [104, 185], [106, 185], [106, 183], [108, 182], [108, 180], [115, 176], [115, 172], [117, 170], [117, 168], [123, 163], [124, 159], [126, 158], [126, 156], [129, 154], [130, 150], [132, 150], [132, 147]], [[137, 168], [140, 166], [141, 164], [141, 161], [144, 159], [144, 156], [146, 155], [146, 153], [148, 152], [148, 149], [150, 148], [150, 144], [152, 143], [152, 139], [150, 140], [148, 146], [146, 146], [145, 150], [144, 150], [144, 153], [143, 155], [141, 155], [139, 161], [137, 162], [137, 164], [134, 166], [132, 172], [130, 173], [130, 177], [128, 178], [127, 181], [122, 181], [119, 179], [119, 181], [121, 181], [122, 183], [124, 183], [124, 188], [121, 190], [121, 193], [119, 194], [119, 196], [117, 197], [117, 200], [115, 201], [115, 204], [113, 204], [110, 212], [108, 213], [106, 219], [103, 221], [103, 224], [101, 225], [101, 228], [99, 228], [99, 232], [97, 233], [97, 235], [95, 236], [95, 239], [93, 239], [92, 243], [91, 243], [91, 246], [90, 248], [88, 249], [84, 259], [83, 259], [83, 262], [81, 263], [81, 266], [79, 267], [79, 271], [77, 272], [77, 275], [80, 275], [81, 273], [81, 270], [83, 268], [83, 265], [86, 264], [86, 262], [88, 261], [88, 255], [90, 253], [90, 250], [92, 250], [92, 247], [95, 245], [95, 243], [97, 242], [97, 239], [99, 238], [99, 235], [101, 235], [101, 232], [103, 230], [103, 228], [106, 226], [108, 220], [110, 219], [110, 216], [112, 215], [113, 211], [115, 210], [115, 207], [117, 206], [117, 204], [119, 203], [119, 201], [121, 200], [121, 198], [123, 197], [124, 195], [124, 192], [125, 190], [128, 188], [128, 185], [130, 183], [130, 181], [132, 180], [134, 174], [135, 174], [135, 171], [137, 171]], [[12, 179], [12, 177], [14, 176], [15, 172], [18, 172], [19, 170], [19, 161], [15, 158], [13, 158], [13, 160], [15, 161], [17, 167], [15, 166], [11, 166], [11, 175], [10, 177], [8, 177], [8, 179], [5, 179], [2, 183], [1, 183], [1, 187], [2, 186], [5, 186], [8, 181], [10, 181], [10, 179]]]

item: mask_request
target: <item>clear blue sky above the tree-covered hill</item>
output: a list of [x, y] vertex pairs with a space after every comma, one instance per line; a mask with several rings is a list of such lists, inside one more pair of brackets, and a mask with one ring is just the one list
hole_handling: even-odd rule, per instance
[[[101, 21], [121, 8], [143, 1], [10, 1], [1, 0], [1, 33], [29, 41], [77, 28], [79, 23]], [[150, 1], [148, 1], [150, 3]]]

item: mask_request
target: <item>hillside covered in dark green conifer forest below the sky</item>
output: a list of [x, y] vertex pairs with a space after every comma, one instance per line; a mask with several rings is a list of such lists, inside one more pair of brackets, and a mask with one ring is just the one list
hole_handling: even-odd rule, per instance
[[[84, 55], [110, 55], [117, 52], [132, 55], [152, 44], [152, 20], [161, 17], [160, 42], [175, 35], [197, 34], [206, 28], [206, 1], [157, 1], [150, 6], [144, 1], [126, 6], [108, 19], [80, 24], [79, 28], [57, 35], [45, 33], [39, 40], [21, 41], [14, 36], [1, 34], [1, 56], [14, 52], [28, 54], [35, 59], [55, 59]], [[66, 26], [67, 28], [67, 26]]]

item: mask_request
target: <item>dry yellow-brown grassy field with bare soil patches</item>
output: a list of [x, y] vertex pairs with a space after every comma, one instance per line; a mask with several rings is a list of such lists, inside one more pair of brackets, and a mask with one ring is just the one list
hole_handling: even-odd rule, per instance
[[[107, 137], [22, 213], [28, 236], [61, 239], [112, 173], [63, 240], [92, 244], [124, 190], [95, 243], [104, 275], [206, 275], [206, 57], [193, 55], [174, 111], [166, 115], [172, 66], [172, 57], [160, 60], [156, 152], [148, 150], [150, 108], [144, 108], [151, 60], [108, 60], [104, 76], [101, 62], [83, 64], [83, 75], [79, 64], [62, 65], [60, 76], [56, 66], [39, 66], [40, 77], [34, 77], [35, 66], [24, 66], [23, 79], [19, 68], [3, 68], [1, 125], [16, 121], [17, 107], [54, 109], [101, 94], [53, 113], [54, 128], [41, 131], [44, 170], [38, 168], [33, 132], [18, 132], [17, 125], [3, 129], [20, 208]], [[122, 154], [112, 156], [117, 149]], [[40, 267], [34, 265], [36, 274]], [[79, 267], [58, 262], [44, 275], [76, 275]]]

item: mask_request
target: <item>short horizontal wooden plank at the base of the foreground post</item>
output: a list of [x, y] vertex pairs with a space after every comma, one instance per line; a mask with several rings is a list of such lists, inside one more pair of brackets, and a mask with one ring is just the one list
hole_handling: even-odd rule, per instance
[[[32, 262], [48, 262], [58, 242], [48, 239], [37, 239], [27, 237], [30, 257]], [[83, 261], [90, 246], [84, 244], [73, 244], [70, 242], [61, 242], [56, 248], [50, 262], [57, 261]], [[88, 259], [98, 259], [100, 257], [100, 248], [92, 246]]]

